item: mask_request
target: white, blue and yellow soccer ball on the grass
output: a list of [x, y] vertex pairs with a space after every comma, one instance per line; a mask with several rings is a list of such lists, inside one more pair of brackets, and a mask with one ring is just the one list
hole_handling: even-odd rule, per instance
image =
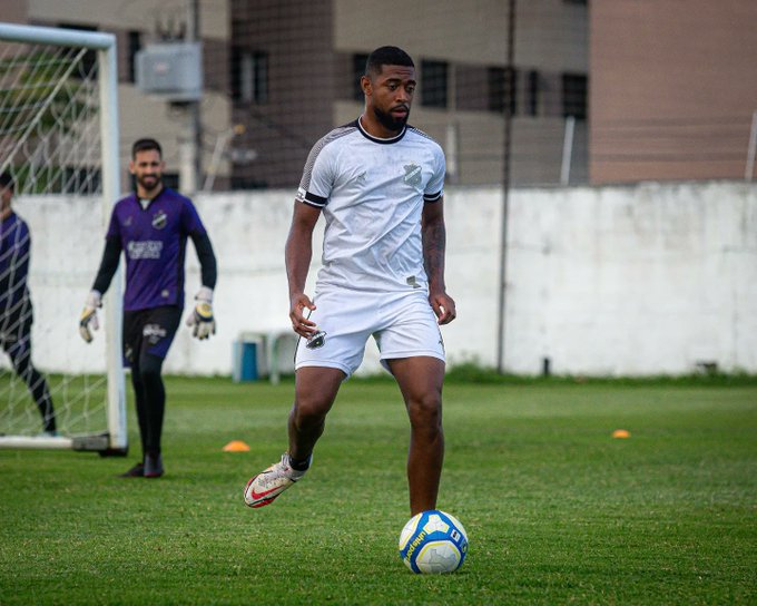
[[413, 573], [453, 573], [463, 565], [465, 554], [465, 528], [439, 509], [413, 516], [400, 534], [400, 557]]

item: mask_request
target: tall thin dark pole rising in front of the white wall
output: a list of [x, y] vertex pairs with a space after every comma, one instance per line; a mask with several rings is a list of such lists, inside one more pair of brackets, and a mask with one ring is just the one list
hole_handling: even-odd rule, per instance
[[508, 266], [508, 215], [510, 206], [510, 148], [512, 146], [512, 107], [514, 86], [512, 76], [515, 55], [515, 0], [508, 2], [508, 57], [505, 77], [508, 78], [504, 105], [504, 148], [502, 154], [502, 225], [500, 237], [500, 281], [499, 304], [497, 306], [499, 328], [497, 331], [497, 370], [504, 372], [504, 336], [507, 317], [507, 266]]

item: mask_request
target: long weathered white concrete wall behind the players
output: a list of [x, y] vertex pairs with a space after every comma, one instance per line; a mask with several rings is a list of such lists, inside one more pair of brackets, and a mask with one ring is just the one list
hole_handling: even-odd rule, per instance
[[[218, 333], [200, 343], [183, 326], [166, 369], [229, 374], [240, 332], [288, 331], [293, 192], [196, 202], [219, 261]], [[102, 335], [87, 346], [77, 334], [102, 247], [98, 203], [19, 198], [16, 208], [33, 235], [35, 361], [48, 371], [101, 366]], [[497, 362], [501, 208], [497, 188], [448, 189], [451, 364]], [[508, 371], [535, 374], [548, 358], [560, 374], [688, 373], [699, 362], [757, 372], [757, 186], [517, 189], [508, 227]], [[188, 297], [199, 284], [189, 248]], [[314, 270], [317, 247], [315, 257]], [[378, 372], [376, 358], [371, 344], [361, 372]]]

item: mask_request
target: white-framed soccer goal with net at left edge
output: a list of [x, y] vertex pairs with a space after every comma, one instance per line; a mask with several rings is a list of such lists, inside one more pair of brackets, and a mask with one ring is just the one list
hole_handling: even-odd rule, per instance
[[119, 274], [98, 339], [78, 334], [120, 192], [115, 53], [111, 35], [0, 23], [0, 173], [12, 188], [0, 232], [0, 447], [127, 449]]

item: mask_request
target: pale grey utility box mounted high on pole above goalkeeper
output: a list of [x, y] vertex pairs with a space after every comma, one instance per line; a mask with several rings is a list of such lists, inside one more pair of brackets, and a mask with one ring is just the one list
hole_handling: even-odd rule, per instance
[[137, 52], [137, 87], [169, 101], [198, 101], [203, 96], [199, 42], [148, 45]]

